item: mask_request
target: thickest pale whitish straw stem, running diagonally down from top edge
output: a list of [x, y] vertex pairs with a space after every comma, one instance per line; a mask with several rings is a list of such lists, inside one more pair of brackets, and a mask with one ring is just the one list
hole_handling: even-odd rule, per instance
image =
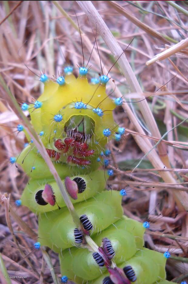
[[[115, 58], [119, 58], [119, 56], [123, 53], [123, 50], [117, 43], [116, 39], [113, 37], [112, 33], [110, 32], [109, 28], [107, 27], [107, 25], [105, 24], [99, 13], [97, 12], [96, 8], [93, 6], [92, 2], [77, 1], [77, 3], [84, 10], [84, 12], [89, 17], [89, 19], [92, 18], [93, 21], [96, 23], [98, 31], [100, 32], [106, 45], [112, 51], [112, 54], [114, 54]], [[141, 98], [144, 98], [142, 95], [142, 89], [140, 88], [136, 76], [132, 68], [130, 67], [126, 55], [124, 53], [119, 58], [118, 64], [127, 80], [131, 92], [137, 92], [141, 94]], [[138, 105], [144, 117], [144, 120], [146, 121], [146, 124], [149, 127], [150, 132], [152, 133], [153, 136], [160, 138], [161, 135], [159, 129], [157, 127], [156, 121], [153, 117], [153, 114], [149, 108], [147, 101], [146, 100], [140, 101]], [[163, 157], [167, 157], [166, 147], [163, 145], [163, 143], [159, 144], [158, 151], [162, 159]]]

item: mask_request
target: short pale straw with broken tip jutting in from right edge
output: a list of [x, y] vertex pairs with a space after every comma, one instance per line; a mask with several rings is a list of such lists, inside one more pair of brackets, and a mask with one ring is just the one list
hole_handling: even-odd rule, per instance
[[170, 48], [162, 51], [159, 54], [156, 54], [152, 59], [146, 61], [146, 66], [150, 66], [151, 64], [155, 63], [156, 61], [162, 61], [171, 55], [185, 49], [188, 47], [188, 38], [183, 39], [182, 41], [176, 43], [176, 45], [171, 46]]

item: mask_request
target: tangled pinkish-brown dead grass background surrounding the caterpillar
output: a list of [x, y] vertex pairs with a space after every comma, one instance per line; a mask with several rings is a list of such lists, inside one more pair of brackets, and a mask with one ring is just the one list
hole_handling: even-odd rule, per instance
[[[117, 1], [116, 3], [129, 12], [129, 15], [132, 16], [131, 19], [127, 19], [120, 11], [116, 11], [108, 1], [92, 2], [122, 49], [125, 49], [134, 38], [132, 44], [126, 50], [126, 56], [142, 90], [146, 92], [146, 97], [148, 97], [147, 93], [149, 95], [152, 93], [147, 101], [161, 134], [188, 117], [188, 49], [180, 50], [169, 58], [146, 67], [146, 61], [187, 38], [188, 17], [186, 12], [188, 6], [184, 1], [173, 1], [185, 10], [185, 12], [182, 12], [170, 5], [169, 2]], [[75, 1], [59, 1], [59, 4], [77, 24], [76, 12], [81, 30], [94, 43], [92, 29], [96, 30], [95, 24], [88, 20], [77, 3]], [[76, 65], [82, 64], [82, 49], [79, 33], [60, 14], [52, 2], [1, 1], [0, 21], [16, 5], [18, 7], [0, 26], [0, 71], [8, 88], [21, 104], [22, 101], [32, 102], [33, 98], [37, 98], [42, 92], [42, 84], [29, 69], [38, 75], [40, 75], [40, 71], [45, 70], [52, 77], [52, 75], [57, 75], [58, 71], [62, 71], [64, 66], [71, 64], [74, 66], [74, 73], [77, 75], [78, 68]], [[138, 19], [136, 25], [132, 22], [133, 17]], [[142, 23], [148, 25], [151, 31], [144, 30]], [[153, 31], [159, 33], [161, 38], [157, 38]], [[100, 35], [97, 37], [97, 42], [101, 59], [109, 70], [115, 60]], [[87, 61], [90, 54], [86, 46], [83, 46], [83, 51]], [[101, 72], [100, 66], [96, 64], [94, 59], [91, 57], [90, 60], [92, 69], [89, 72], [89, 78]], [[128, 94], [129, 86], [117, 64], [112, 68], [111, 76], [121, 93], [123, 95]], [[158, 90], [159, 88], [160, 90]], [[16, 132], [13, 132], [15, 128], [12, 127], [16, 127], [19, 121], [6, 99], [3, 99], [3, 97], [6, 98], [6, 94], [2, 86], [0, 86], [0, 90], [0, 190], [2, 194], [5, 192], [11, 194], [9, 206], [12, 211], [10, 213], [14, 210], [16, 216], [20, 216], [32, 229], [32, 231], [29, 231], [29, 228], [25, 227], [25, 231], [23, 231], [23, 224], [21, 226], [18, 217], [15, 217], [15, 213], [9, 214], [12, 232], [18, 235], [14, 238], [21, 248], [31, 247], [23, 250], [24, 255], [27, 256], [32, 251], [32, 245], [36, 241], [37, 218], [25, 207], [15, 208], [14, 201], [21, 196], [27, 177], [20, 168], [17, 169], [15, 165], [9, 163], [9, 158], [19, 154], [26, 140], [22, 133], [17, 135]], [[108, 86], [107, 92], [110, 93], [111, 91], [111, 87]], [[169, 92], [168, 95], [165, 95], [166, 91]], [[130, 97], [127, 101], [130, 101]], [[132, 103], [130, 107], [146, 135], [150, 136], [136, 104]], [[180, 128], [175, 128], [164, 138], [172, 168], [164, 170], [170, 170], [177, 183], [166, 184], [159, 176], [162, 169], [153, 169], [147, 158], [141, 163], [141, 167], [137, 168], [132, 174], [132, 169], [143, 157], [143, 153], [132, 137], [131, 132], [135, 129], [126, 112], [119, 107], [114, 116], [116, 122], [128, 130], [124, 139], [120, 142], [113, 141], [109, 145], [114, 154], [111, 165], [118, 169], [115, 177], [109, 180], [109, 184], [117, 190], [124, 188], [126, 183], [129, 184], [126, 188], [127, 196], [123, 199], [125, 214], [142, 222], [148, 219], [152, 222], [151, 230], [147, 231], [145, 236], [146, 246], [160, 252], [170, 250], [172, 259], [167, 261], [167, 279], [173, 279], [180, 283], [181, 280], [188, 279], [185, 278], [188, 277], [188, 217], [185, 210], [178, 210], [172, 191], [179, 189], [178, 183], [183, 185], [182, 190], [186, 192], [188, 190], [188, 154], [186, 148], [188, 147], [186, 140], [188, 124], [185, 122]], [[152, 141], [154, 144], [154, 140]], [[130, 177], [132, 178], [130, 179]], [[12, 283], [53, 283], [49, 266], [46, 264], [44, 254], [42, 255], [41, 251], [34, 251], [28, 258], [23, 259], [24, 256], [21, 256], [18, 249], [12, 248], [12, 246], [17, 247], [17, 244], [13, 242], [10, 233], [11, 225], [8, 224], [7, 226], [5, 220], [5, 202], [3, 200], [1, 205], [0, 252], [2, 259], [9, 275], [27, 276], [25, 280], [13, 279]], [[30, 237], [32, 233], [33, 238]], [[55, 273], [60, 276], [58, 256], [52, 251], [48, 251], [48, 253]], [[176, 257], [183, 257], [183, 259], [173, 259]], [[3, 284], [7, 283], [2, 274], [0, 274], [0, 279]]]

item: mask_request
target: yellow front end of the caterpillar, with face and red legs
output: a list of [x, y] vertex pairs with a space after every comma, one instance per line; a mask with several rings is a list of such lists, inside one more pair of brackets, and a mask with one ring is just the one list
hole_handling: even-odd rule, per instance
[[[55, 82], [45, 81], [43, 94], [28, 108], [52, 160], [70, 165], [74, 172], [79, 167], [81, 173], [99, 166], [97, 157], [118, 129], [112, 112], [116, 104], [106, 94], [109, 78], [101, 76], [98, 84], [89, 84], [85, 69], [80, 68], [78, 78], [66, 71], [65, 78], [61, 74]], [[22, 160], [23, 155], [17, 162]], [[24, 163], [22, 167], [27, 172]]]

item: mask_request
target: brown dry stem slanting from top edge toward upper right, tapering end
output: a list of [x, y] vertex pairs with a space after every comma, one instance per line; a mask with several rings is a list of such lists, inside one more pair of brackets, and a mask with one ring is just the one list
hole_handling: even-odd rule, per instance
[[117, 4], [114, 1], [108, 1], [108, 3], [120, 14], [125, 16], [129, 21], [131, 21], [133, 24], [135, 24], [137, 27], [145, 31], [147, 34], [160, 39], [163, 42], [169, 43], [160, 33], [155, 31], [153, 28], [150, 28], [148, 25], [144, 24], [143, 22], [139, 21], [136, 17], [131, 15], [129, 11], [127, 11], [125, 8], [121, 7], [119, 4]]

